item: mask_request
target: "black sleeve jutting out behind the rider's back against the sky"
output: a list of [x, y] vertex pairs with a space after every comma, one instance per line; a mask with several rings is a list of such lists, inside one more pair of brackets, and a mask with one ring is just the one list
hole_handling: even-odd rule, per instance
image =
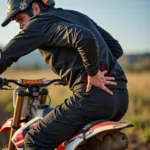
[[110, 51], [112, 52], [113, 56], [118, 59], [123, 55], [123, 49], [119, 42], [115, 40], [107, 31], [103, 28], [98, 26], [95, 22], [93, 22], [102, 35], [103, 39], [105, 40], [106, 44], [108, 45]]

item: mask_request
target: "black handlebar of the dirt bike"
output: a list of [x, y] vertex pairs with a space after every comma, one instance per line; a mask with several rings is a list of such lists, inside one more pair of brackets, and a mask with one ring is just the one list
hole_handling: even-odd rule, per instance
[[0, 78], [0, 87], [8, 86], [9, 83], [14, 83], [20, 87], [46, 87], [53, 83], [57, 83], [57, 85], [64, 85], [64, 86], [67, 85], [67, 81], [65, 79], [46, 80], [46, 83], [43, 84], [22, 84], [19, 83], [19, 80]]

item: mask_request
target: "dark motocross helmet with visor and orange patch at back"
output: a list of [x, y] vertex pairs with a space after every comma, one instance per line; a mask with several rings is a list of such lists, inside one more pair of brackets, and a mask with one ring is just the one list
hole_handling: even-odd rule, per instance
[[[46, 6], [55, 5], [55, 0], [37, 1], [41, 1]], [[7, 17], [2, 23], [2, 27], [5, 27], [7, 24], [9, 24], [12, 18], [18, 13], [26, 11], [32, 2], [35, 2], [35, 0], [8, 0], [6, 6]]]

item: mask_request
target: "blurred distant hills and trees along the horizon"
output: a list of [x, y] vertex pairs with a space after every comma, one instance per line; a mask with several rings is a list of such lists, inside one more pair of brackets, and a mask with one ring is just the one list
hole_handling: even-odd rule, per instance
[[[149, 72], [150, 71], [150, 53], [124, 55], [119, 59], [120, 65], [127, 72]], [[12, 69], [16, 70], [46, 70], [49, 69], [46, 63], [34, 61], [32, 63], [16, 63]]]

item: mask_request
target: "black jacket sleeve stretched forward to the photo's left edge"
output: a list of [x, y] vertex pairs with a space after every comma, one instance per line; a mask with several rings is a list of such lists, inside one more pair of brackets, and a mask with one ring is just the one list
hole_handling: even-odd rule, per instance
[[43, 43], [44, 36], [39, 24], [31, 21], [0, 51], [0, 74]]

